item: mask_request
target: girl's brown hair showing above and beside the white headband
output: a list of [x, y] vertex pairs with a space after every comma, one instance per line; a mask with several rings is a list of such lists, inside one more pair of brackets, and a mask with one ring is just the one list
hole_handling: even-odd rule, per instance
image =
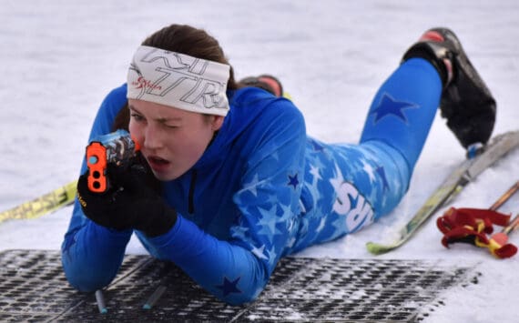
[[[142, 42], [142, 45], [157, 47], [170, 52], [185, 54], [230, 66], [218, 40], [209, 35], [205, 30], [190, 25], [168, 25], [152, 35], [149, 35], [148, 38]], [[239, 83], [236, 82], [234, 78], [234, 70], [232, 66], [230, 66], [227, 88], [229, 90], [236, 90], [239, 87]], [[127, 129], [128, 123], [129, 110], [126, 104], [117, 114], [112, 129]]]

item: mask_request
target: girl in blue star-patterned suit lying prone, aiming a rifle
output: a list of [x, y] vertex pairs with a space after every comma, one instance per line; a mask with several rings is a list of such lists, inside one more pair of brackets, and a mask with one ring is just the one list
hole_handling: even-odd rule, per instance
[[446, 28], [404, 54], [349, 145], [308, 136], [274, 77], [237, 82], [215, 38], [169, 25], [138, 46], [126, 84], [98, 110], [91, 140], [128, 129], [140, 151], [131, 167], [109, 167], [101, 194], [88, 189], [84, 160], [66, 278], [81, 291], [107, 286], [135, 233], [217, 298], [252, 301], [281, 257], [398, 205], [438, 106], [463, 146], [491, 136], [494, 98]]

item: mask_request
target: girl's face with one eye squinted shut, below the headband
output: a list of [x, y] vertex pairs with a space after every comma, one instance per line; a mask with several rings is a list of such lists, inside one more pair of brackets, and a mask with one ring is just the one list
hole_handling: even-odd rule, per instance
[[193, 167], [224, 119], [135, 99], [128, 100], [128, 107], [129, 132], [161, 181]]

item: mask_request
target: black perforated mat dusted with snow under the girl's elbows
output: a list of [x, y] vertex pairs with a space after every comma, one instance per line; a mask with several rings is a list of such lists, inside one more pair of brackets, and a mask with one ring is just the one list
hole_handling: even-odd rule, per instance
[[[442, 261], [287, 257], [260, 298], [233, 307], [172, 264], [127, 256], [103, 290], [107, 313], [100, 314], [93, 294], [68, 285], [58, 251], [7, 250], [0, 253], [0, 322], [414, 322], [443, 306], [443, 291], [479, 275]], [[144, 309], [161, 286], [164, 294]]]

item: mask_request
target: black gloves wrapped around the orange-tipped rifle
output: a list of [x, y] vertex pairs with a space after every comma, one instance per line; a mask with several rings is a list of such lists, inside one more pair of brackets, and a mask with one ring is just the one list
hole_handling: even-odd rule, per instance
[[86, 217], [103, 227], [135, 228], [148, 237], [165, 234], [175, 225], [177, 212], [147, 184], [144, 167], [108, 166], [110, 188], [92, 193], [87, 187], [88, 171], [77, 182], [77, 198]]

